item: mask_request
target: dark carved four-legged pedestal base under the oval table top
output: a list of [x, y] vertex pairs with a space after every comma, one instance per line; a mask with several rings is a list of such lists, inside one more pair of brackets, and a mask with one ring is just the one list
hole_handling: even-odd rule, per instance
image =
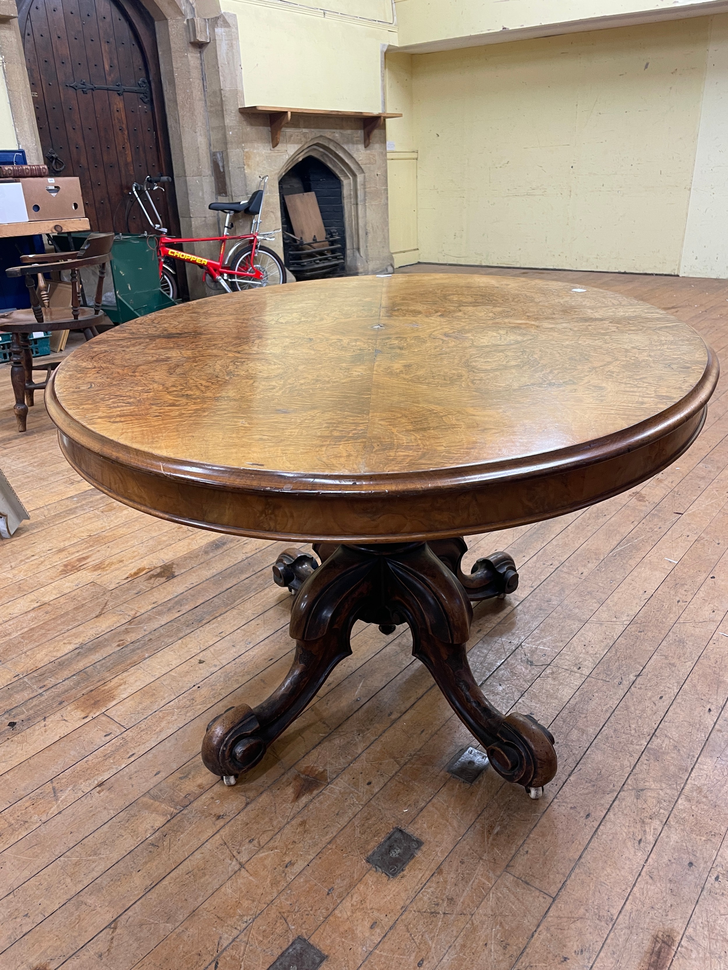
[[208, 727], [202, 745], [207, 767], [234, 784], [263, 758], [268, 746], [303, 711], [337, 663], [351, 653], [354, 621], [392, 632], [408, 624], [413, 653], [428, 668], [460, 720], [485, 748], [493, 768], [532, 796], [556, 773], [553, 737], [535, 718], [504, 716], [488, 703], [468, 664], [465, 644], [473, 619], [471, 600], [512, 593], [518, 585], [513, 559], [496, 553], [470, 575], [460, 568], [461, 538], [429, 543], [314, 546], [321, 560], [286, 550], [274, 578], [296, 594], [290, 635], [296, 655], [287, 677], [251, 709], [232, 707]]

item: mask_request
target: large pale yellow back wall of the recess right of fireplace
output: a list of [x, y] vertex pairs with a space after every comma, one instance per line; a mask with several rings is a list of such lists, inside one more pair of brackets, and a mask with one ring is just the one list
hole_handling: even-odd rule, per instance
[[678, 273], [710, 26], [414, 54], [420, 261]]

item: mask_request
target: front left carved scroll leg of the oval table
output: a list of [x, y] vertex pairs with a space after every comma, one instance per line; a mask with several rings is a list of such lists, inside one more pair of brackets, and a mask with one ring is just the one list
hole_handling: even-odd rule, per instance
[[296, 655], [281, 686], [257, 707], [240, 704], [208, 725], [202, 760], [226, 785], [234, 785], [238, 775], [263, 758], [336, 664], [350, 655], [356, 608], [368, 595], [361, 581], [371, 567], [342, 550], [316, 569], [293, 604], [290, 633], [296, 640]]

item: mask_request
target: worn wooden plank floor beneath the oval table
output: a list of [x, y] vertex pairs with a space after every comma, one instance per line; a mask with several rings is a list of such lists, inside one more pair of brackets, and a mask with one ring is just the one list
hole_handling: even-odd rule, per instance
[[[495, 272], [613, 289], [728, 343], [726, 281]], [[728, 966], [726, 379], [670, 469], [471, 540], [520, 570], [476, 607], [470, 659], [556, 736], [531, 801], [447, 774], [468, 732], [409, 633], [363, 624], [248, 779], [215, 781], [206, 724], [290, 663], [284, 544], [110, 501], [43, 404], [16, 434], [0, 368], [0, 466], [31, 513], [0, 542], [0, 967], [267, 970], [298, 936], [332, 970]], [[388, 880], [366, 857], [395, 826], [423, 845]]]

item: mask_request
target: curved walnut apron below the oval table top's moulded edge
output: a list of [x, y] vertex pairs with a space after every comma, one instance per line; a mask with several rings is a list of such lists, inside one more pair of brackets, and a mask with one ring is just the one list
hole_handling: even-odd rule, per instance
[[592, 465], [403, 496], [220, 489], [124, 466], [61, 432], [58, 437], [86, 481], [149, 515], [263, 538], [396, 542], [508, 529], [609, 499], [671, 465], [700, 434], [706, 410], [656, 441]]

